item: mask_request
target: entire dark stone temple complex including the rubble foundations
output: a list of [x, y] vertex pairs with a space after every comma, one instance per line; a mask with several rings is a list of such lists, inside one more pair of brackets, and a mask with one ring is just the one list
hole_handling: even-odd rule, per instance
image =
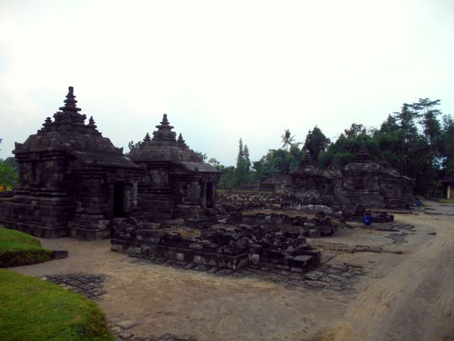
[[204, 163], [182, 134], [177, 138], [167, 114], [153, 138], [147, 133], [125, 156], [92, 117], [85, 123], [76, 104], [70, 87], [54, 120], [48, 117], [16, 144], [20, 185], [0, 204], [4, 226], [39, 237], [111, 237], [114, 251], [181, 264], [255, 266], [288, 275], [320, 263], [320, 251], [306, 238], [331, 236], [359, 216], [356, 208], [347, 217], [333, 207], [404, 207], [412, 200], [412, 180], [385, 160], [374, 162], [362, 147], [343, 169], [333, 163], [321, 171], [306, 155], [284, 177], [292, 188], [279, 197], [224, 197], [217, 205], [221, 172]]

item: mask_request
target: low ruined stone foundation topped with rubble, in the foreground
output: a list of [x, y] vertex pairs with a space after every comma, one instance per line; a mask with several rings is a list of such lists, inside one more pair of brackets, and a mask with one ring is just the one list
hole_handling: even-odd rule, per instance
[[114, 220], [111, 250], [144, 254], [184, 263], [240, 269], [248, 264], [275, 271], [304, 272], [320, 263], [320, 251], [306, 244], [299, 233], [270, 232], [247, 225], [226, 229], [215, 224], [203, 231], [184, 227], [182, 237], [172, 228], [155, 223]]

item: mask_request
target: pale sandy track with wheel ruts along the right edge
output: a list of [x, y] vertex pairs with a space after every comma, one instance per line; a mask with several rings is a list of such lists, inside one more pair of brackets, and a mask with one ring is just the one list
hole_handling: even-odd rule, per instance
[[397, 220], [433, 228], [436, 236], [360, 293], [321, 340], [454, 340], [454, 219]]

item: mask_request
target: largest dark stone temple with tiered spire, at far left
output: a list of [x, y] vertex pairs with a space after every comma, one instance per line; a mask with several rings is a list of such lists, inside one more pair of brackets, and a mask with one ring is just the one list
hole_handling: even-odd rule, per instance
[[20, 184], [0, 204], [0, 223], [38, 237], [110, 236], [113, 217], [137, 206], [140, 168], [79, 114], [73, 88], [54, 120], [16, 143]]

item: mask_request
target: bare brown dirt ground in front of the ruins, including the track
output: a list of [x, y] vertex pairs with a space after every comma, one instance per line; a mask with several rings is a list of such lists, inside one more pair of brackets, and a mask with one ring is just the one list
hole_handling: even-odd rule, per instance
[[[330, 263], [363, 266], [350, 291], [289, 288], [257, 278], [229, 278], [133, 263], [110, 251], [109, 240], [41, 239], [67, 249], [67, 259], [13, 268], [23, 274], [106, 274], [107, 318], [135, 325], [135, 335], [166, 332], [198, 340], [454, 340], [454, 205], [428, 202], [443, 215], [398, 215], [414, 224], [406, 244], [391, 232], [342, 230], [329, 242], [391, 252], [337, 254]], [[429, 235], [436, 232], [436, 235]]]

